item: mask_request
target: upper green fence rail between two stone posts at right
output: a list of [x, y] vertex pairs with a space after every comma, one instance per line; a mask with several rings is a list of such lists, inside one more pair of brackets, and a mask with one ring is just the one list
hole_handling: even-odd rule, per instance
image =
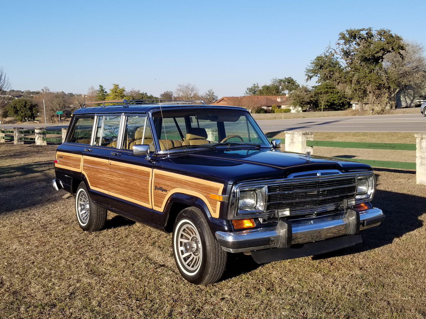
[[415, 144], [403, 144], [403, 143], [306, 141], [306, 146], [369, 148], [369, 149], [376, 149], [376, 150], [398, 150], [398, 151], [415, 151], [416, 150]]

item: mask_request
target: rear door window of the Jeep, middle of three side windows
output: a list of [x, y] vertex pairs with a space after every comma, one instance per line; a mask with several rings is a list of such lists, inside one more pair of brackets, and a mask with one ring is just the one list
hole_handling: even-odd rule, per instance
[[105, 115], [98, 117], [95, 145], [117, 147], [120, 121], [121, 115]]

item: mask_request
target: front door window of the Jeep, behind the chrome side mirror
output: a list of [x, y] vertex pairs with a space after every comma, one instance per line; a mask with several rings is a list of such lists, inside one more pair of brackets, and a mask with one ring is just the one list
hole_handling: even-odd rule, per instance
[[128, 116], [124, 128], [121, 148], [131, 150], [133, 145], [148, 144], [150, 151], [155, 151], [153, 136], [146, 116]]

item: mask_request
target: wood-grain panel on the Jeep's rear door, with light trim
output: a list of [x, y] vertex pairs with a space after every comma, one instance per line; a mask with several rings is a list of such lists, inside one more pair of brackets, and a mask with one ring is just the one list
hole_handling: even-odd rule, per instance
[[90, 188], [108, 194], [109, 160], [83, 156], [82, 173]]

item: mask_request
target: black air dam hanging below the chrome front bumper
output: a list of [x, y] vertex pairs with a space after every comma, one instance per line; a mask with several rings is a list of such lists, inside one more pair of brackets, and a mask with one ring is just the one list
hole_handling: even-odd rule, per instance
[[293, 245], [291, 248], [270, 248], [260, 251], [252, 251], [251, 256], [259, 263], [276, 262], [285, 259], [319, 255], [338, 249], [350, 247], [363, 242], [361, 235], [348, 235], [336, 238], [308, 242], [303, 245]]

